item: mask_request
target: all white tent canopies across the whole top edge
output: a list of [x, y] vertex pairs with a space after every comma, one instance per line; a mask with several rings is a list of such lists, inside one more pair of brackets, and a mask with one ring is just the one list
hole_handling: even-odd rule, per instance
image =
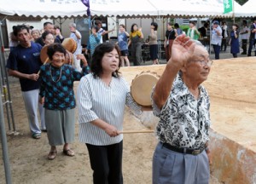
[[[232, 17], [224, 14], [224, 0], [90, 0], [92, 16], [136, 17]], [[236, 17], [256, 16], [255, 0], [243, 6], [234, 2]], [[81, 0], [1, 0], [0, 14], [57, 18], [86, 16]]]

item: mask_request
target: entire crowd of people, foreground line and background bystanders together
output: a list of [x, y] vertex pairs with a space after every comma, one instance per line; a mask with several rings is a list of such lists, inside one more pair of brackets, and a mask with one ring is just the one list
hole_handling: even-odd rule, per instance
[[[249, 32], [247, 55], [251, 55], [256, 32], [256, 20], [253, 21], [250, 29], [243, 21], [241, 32], [239, 26], [233, 24], [229, 43], [234, 57], [240, 52], [238, 37]], [[127, 56], [130, 45], [133, 62], [140, 65], [143, 32], [137, 24], [131, 26], [130, 33], [125, 31], [125, 25], [120, 25], [116, 44], [101, 43], [102, 35], [114, 29], [103, 30], [101, 22], [92, 26], [85, 50], [86, 53], [90, 49], [90, 67], [82, 54], [82, 35], [74, 23], [69, 25], [70, 37], [78, 44], [74, 50], [73, 65], [65, 63], [67, 50], [61, 44], [64, 37], [58, 26], [46, 22], [44, 32], [32, 30], [26, 25], [14, 26], [13, 37], [17, 44], [14, 43], [10, 51], [7, 69], [10, 76], [20, 79], [32, 138], [38, 140], [42, 131], [47, 132], [49, 160], [55, 159], [57, 146], [62, 145], [65, 155], [75, 155], [70, 147], [75, 136], [73, 83], [81, 80], [77, 99], [79, 141], [88, 149], [95, 184], [123, 183], [123, 135], [120, 131], [123, 129], [125, 106], [131, 107], [136, 114], [153, 110], [154, 115], [160, 118], [156, 127], [159, 144], [154, 151], [153, 183], [207, 184], [209, 164], [212, 162], [208, 147], [210, 101], [201, 83], [207, 80], [212, 60], [207, 49], [198, 41], [201, 35], [206, 35], [207, 27], [204, 25], [197, 30], [195, 23], [191, 22], [186, 36], [177, 24], [172, 26], [168, 23], [164, 42], [168, 62], [152, 92], [153, 109], [148, 109], [133, 100], [129, 84], [119, 73], [120, 66], [129, 66]], [[152, 22], [150, 29], [150, 58], [158, 64], [157, 23]], [[221, 27], [218, 20], [212, 22], [211, 44], [215, 59], [219, 59], [222, 48], [226, 49], [222, 41], [229, 34], [225, 31], [227, 27], [224, 23]], [[242, 43], [247, 43], [247, 37], [242, 37], [242, 40], [246, 40]], [[44, 46], [47, 46], [49, 62], [43, 64], [40, 52]], [[245, 44], [242, 49], [246, 54]], [[196, 172], [194, 165], [197, 165]]]

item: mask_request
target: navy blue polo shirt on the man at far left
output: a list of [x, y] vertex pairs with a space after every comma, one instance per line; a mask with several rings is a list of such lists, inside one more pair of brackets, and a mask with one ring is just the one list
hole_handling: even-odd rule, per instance
[[[9, 54], [6, 67], [21, 73], [38, 73], [42, 62], [40, 51], [42, 46], [38, 43], [31, 43], [30, 48], [24, 48], [20, 44]], [[40, 82], [26, 78], [20, 78], [21, 91], [39, 89]]]

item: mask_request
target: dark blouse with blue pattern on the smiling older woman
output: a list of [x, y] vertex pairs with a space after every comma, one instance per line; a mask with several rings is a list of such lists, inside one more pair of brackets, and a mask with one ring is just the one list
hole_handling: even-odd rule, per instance
[[73, 82], [79, 81], [89, 73], [84, 66], [82, 72], [70, 65], [62, 65], [60, 68], [46, 64], [40, 68], [40, 93], [44, 97], [44, 108], [49, 110], [67, 110], [76, 106], [73, 92]]

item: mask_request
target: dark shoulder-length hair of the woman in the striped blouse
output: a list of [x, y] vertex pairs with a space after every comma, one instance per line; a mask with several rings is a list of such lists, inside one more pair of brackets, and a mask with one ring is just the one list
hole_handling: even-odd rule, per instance
[[[120, 49], [119, 46], [117, 44], [113, 44], [113, 43], [101, 43], [98, 46], [96, 46], [96, 49], [92, 55], [92, 62], [91, 62], [91, 66], [90, 66], [90, 70], [93, 74], [93, 77], [100, 77], [100, 75], [103, 72], [103, 68], [102, 68], [102, 58], [106, 53], [109, 53], [111, 51], [113, 51], [113, 49], [116, 49], [118, 54], [119, 54], [119, 58], [120, 58]], [[119, 60], [119, 68], [121, 66], [121, 62]], [[112, 76], [115, 78], [119, 78], [119, 68], [112, 73]]]

